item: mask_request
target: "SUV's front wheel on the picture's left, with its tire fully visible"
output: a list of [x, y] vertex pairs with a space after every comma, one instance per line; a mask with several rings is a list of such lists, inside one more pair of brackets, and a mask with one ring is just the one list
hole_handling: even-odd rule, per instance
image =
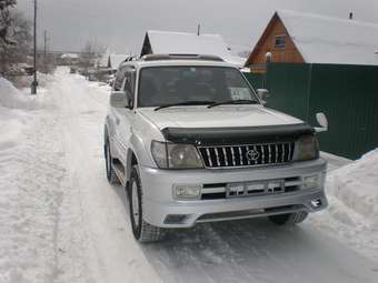
[[153, 226], [143, 220], [143, 193], [138, 165], [135, 165], [131, 170], [130, 181], [128, 183], [128, 196], [130, 223], [136, 240], [143, 243], [161, 241], [165, 236], [165, 229]]

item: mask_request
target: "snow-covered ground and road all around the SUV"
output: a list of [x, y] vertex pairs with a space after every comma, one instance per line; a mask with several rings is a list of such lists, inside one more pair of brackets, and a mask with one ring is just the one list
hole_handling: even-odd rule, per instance
[[108, 87], [58, 69], [34, 98], [0, 79], [0, 282], [378, 282], [378, 151], [328, 154], [330, 206], [296, 228], [201, 224], [136, 243], [102, 159]]

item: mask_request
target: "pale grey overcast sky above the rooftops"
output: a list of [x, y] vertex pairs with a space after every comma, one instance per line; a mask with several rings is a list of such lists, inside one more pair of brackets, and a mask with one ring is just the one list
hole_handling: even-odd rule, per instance
[[[18, 0], [32, 18], [33, 0]], [[378, 23], [378, 0], [38, 0], [39, 33], [52, 50], [81, 50], [94, 40], [118, 53], [139, 53], [146, 30], [221, 34], [233, 51], [250, 50], [275, 10]], [[378, 39], [377, 39], [378, 40]], [[42, 38], [39, 37], [39, 43]], [[41, 44], [39, 44], [41, 46]]]

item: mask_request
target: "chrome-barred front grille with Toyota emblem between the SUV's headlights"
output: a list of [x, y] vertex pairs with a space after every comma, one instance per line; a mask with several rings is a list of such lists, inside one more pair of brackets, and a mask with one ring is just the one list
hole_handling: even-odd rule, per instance
[[294, 142], [200, 146], [206, 168], [243, 168], [281, 164], [292, 160]]

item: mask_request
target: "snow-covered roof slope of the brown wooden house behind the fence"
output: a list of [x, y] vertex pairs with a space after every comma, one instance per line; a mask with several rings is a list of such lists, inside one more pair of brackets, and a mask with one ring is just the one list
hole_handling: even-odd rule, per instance
[[378, 24], [277, 11], [306, 62], [378, 64]]

